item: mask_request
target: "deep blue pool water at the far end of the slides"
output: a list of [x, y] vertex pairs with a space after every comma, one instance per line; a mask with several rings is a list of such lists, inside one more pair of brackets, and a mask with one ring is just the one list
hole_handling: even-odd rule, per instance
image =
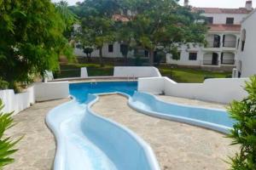
[[69, 84], [69, 92], [79, 103], [88, 103], [88, 94], [121, 92], [132, 96], [137, 82], [83, 82]]

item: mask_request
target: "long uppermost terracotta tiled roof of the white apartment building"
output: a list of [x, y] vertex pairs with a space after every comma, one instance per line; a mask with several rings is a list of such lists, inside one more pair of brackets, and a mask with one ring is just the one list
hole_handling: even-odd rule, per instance
[[204, 11], [207, 14], [249, 14], [247, 8], [192, 8], [193, 11]]

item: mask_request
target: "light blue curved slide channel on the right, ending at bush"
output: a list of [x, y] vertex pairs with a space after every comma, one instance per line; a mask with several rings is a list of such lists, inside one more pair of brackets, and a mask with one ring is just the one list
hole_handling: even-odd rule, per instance
[[167, 103], [148, 93], [136, 92], [128, 104], [150, 116], [206, 127], [220, 133], [230, 133], [235, 122], [224, 110]]

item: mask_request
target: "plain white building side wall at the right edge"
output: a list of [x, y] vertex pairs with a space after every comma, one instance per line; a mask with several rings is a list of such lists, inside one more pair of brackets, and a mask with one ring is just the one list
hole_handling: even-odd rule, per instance
[[241, 21], [241, 43], [239, 44], [235, 77], [256, 75], [256, 9]]

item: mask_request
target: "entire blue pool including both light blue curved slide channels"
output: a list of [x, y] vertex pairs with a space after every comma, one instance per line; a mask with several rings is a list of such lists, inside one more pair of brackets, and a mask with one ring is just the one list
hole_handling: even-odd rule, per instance
[[233, 123], [225, 111], [174, 105], [138, 93], [137, 82], [70, 83], [69, 89], [74, 99], [46, 117], [57, 142], [55, 170], [160, 170], [153, 150], [143, 139], [91, 111], [90, 106], [98, 100], [96, 94], [124, 94], [137, 111], [220, 132]]

